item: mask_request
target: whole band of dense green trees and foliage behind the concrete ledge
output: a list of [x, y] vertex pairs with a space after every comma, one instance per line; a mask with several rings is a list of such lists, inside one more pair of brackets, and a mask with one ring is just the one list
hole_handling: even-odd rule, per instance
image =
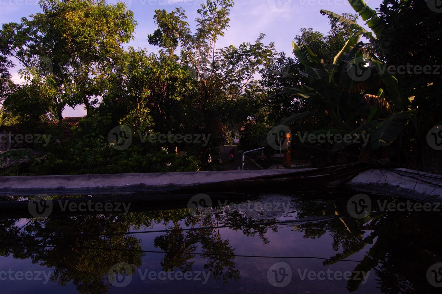
[[[217, 47], [232, 0], [206, 1], [194, 23], [182, 8], [156, 10], [158, 27], [146, 36], [156, 53], [124, 47], [137, 23], [123, 3], [42, 1], [40, 13], [0, 31], [1, 125], [50, 140], [32, 146], [31, 163], [3, 174], [208, 170], [216, 168], [209, 159], [220, 145], [240, 136], [241, 148], [258, 147], [278, 124], [292, 126], [292, 149], [327, 157], [327, 164], [381, 158], [419, 165], [427, 130], [442, 121], [434, 111], [441, 75], [385, 69], [440, 64], [441, 19], [423, 1], [384, 0], [377, 11], [349, 2], [356, 14], [321, 11], [330, 19], [328, 34], [301, 28], [290, 57], [258, 32], [254, 42]], [[360, 61], [371, 74], [355, 80], [350, 68]], [[14, 66], [25, 82], [11, 81]], [[85, 107], [87, 116], [68, 126], [66, 106]], [[133, 137], [124, 150], [108, 138], [120, 125]], [[371, 139], [366, 146], [309, 145], [298, 131]], [[203, 139], [146, 143], [158, 134]], [[5, 166], [12, 161], [2, 155]]]

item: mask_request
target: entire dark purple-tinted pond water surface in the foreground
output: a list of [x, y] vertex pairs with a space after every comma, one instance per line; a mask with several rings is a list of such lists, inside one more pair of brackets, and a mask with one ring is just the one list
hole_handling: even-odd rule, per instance
[[441, 293], [427, 275], [442, 261], [440, 212], [382, 211], [370, 196], [354, 218], [352, 195], [3, 217], [0, 292]]

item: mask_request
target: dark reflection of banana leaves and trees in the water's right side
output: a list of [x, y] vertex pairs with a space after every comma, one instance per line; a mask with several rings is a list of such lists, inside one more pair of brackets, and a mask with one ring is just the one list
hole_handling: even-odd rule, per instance
[[[334, 209], [330, 209], [330, 207]], [[317, 238], [329, 232], [333, 237], [332, 248], [342, 253], [324, 261], [324, 266], [339, 262], [373, 244], [353, 271], [367, 273], [372, 270], [380, 278], [378, 288], [382, 293], [434, 293], [426, 278], [428, 267], [442, 260], [442, 232], [436, 229], [441, 216], [429, 212], [376, 212], [364, 219], [338, 218], [319, 224], [301, 226], [305, 237]], [[301, 211], [299, 217], [312, 215], [312, 207]], [[334, 211], [335, 210], [335, 211]], [[346, 202], [328, 202], [317, 209], [318, 213], [346, 214]], [[372, 231], [363, 237], [363, 233]], [[357, 290], [362, 280], [351, 279], [347, 290]], [[423, 291], [425, 290], [425, 291]]]

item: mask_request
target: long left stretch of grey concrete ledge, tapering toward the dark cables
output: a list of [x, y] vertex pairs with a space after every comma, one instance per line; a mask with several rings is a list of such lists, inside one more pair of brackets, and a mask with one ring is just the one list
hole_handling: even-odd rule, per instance
[[283, 176], [309, 169], [0, 177], [0, 195], [133, 194]]

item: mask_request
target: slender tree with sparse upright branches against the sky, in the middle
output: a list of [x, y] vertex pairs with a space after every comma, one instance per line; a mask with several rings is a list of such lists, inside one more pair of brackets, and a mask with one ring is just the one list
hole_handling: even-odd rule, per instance
[[185, 11], [176, 8], [168, 13], [156, 10], [154, 19], [158, 30], [149, 35], [151, 44], [161, 46], [169, 56], [179, 47], [179, 62], [188, 67], [196, 80], [192, 114], [194, 130], [201, 130], [210, 140], [201, 148], [202, 168], [207, 169], [210, 148], [223, 141], [223, 112], [232, 103], [263, 64], [270, 62], [273, 43], [263, 44], [264, 34], [254, 43], [242, 43], [216, 49], [218, 38], [229, 27], [232, 0], [208, 0], [198, 9], [196, 31], [191, 32]]

